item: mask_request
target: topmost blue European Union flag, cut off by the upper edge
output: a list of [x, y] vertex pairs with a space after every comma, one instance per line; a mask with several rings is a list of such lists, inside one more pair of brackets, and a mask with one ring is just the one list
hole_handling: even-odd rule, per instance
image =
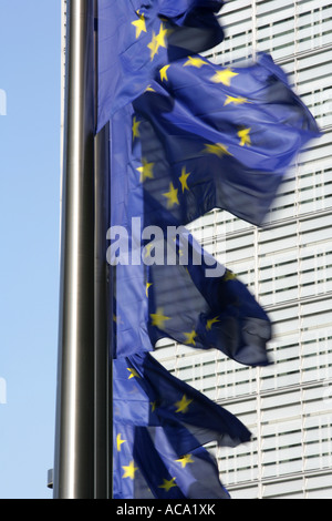
[[224, 39], [221, 0], [100, 0], [98, 122], [132, 102], [155, 72]]

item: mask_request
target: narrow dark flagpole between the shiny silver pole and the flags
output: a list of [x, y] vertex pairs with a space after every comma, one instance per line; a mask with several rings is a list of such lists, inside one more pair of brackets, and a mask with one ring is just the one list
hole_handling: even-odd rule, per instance
[[95, 137], [95, 498], [112, 498], [111, 272], [106, 263], [108, 221], [108, 125]]

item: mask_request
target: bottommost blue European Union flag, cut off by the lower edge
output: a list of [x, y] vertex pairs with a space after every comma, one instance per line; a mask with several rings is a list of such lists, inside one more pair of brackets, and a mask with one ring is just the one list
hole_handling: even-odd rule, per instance
[[113, 498], [230, 499], [208, 450], [173, 448], [170, 432], [180, 437], [184, 431], [114, 423]]

